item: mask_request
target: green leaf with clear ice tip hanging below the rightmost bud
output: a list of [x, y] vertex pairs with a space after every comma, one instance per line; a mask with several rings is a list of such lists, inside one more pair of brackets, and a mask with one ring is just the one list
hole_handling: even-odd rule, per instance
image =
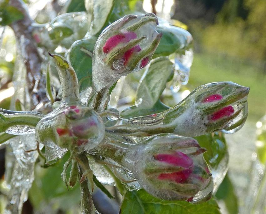
[[217, 191], [228, 170], [228, 149], [223, 133], [208, 133], [195, 137], [201, 147], [207, 149], [204, 158], [207, 161], [213, 177], [214, 192]]

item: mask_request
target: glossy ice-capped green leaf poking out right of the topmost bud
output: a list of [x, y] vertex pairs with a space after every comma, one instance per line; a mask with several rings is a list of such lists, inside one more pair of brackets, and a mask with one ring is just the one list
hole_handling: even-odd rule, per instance
[[157, 31], [162, 33], [162, 38], [153, 58], [168, 56], [172, 53], [181, 52], [182, 50], [192, 47], [192, 36], [185, 29], [175, 26], [159, 25]]

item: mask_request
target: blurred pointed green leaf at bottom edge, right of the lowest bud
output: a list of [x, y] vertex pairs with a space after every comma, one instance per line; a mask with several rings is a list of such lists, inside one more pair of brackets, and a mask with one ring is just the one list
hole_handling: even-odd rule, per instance
[[234, 191], [234, 186], [228, 174], [224, 177], [216, 195], [218, 200], [223, 200], [229, 214], [238, 213], [238, 199]]

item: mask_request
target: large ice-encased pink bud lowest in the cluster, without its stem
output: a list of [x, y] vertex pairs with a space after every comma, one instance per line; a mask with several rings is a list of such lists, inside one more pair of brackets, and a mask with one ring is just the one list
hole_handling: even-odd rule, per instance
[[[213, 191], [212, 176], [203, 158], [205, 151], [193, 138], [164, 133], [130, 149], [123, 164], [151, 195], [197, 203], [208, 200]], [[206, 189], [206, 194], [197, 198]]]

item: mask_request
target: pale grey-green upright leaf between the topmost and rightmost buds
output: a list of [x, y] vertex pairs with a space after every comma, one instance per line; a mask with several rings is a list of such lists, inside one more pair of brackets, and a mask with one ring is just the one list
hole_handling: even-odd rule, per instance
[[160, 57], [151, 61], [138, 85], [136, 106], [151, 108], [159, 100], [174, 72], [174, 65], [167, 57]]

